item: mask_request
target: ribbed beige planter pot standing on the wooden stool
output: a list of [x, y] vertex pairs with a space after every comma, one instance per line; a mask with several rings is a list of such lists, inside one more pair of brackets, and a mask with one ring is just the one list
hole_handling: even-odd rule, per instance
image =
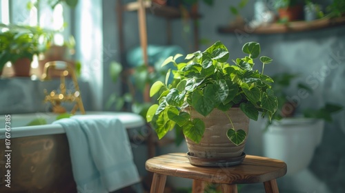
[[[249, 118], [246, 114], [239, 108], [231, 108], [226, 113], [233, 121], [235, 130], [244, 130], [248, 136]], [[193, 119], [203, 120], [206, 129], [200, 143], [195, 143], [186, 137], [190, 156], [201, 159], [228, 159], [242, 155], [246, 140], [236, 146], [228, 139], [226, 132], [233, 126], [224, 112], [215, 109], [205, 117], [192, 109], [191, 116]]]

